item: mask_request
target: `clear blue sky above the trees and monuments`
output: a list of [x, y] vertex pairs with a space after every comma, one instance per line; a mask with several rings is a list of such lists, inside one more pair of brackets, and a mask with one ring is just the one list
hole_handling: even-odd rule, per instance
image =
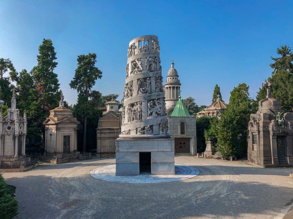
[[209, 105], [215, 84], [228, 102], [239, 83], [251, 97], [270, 76], [270, 55], [293, 46], [293, 1], [0, 1], [0, 57], [30, 71], [42, 39], [57, 52], [60, 88], [69, 103], [77, 55], [96, 53], [103, 71], [94, 89], [122, 98], [131, 39], [157, 35], [164, 80], [174, 60], [182, 97]]

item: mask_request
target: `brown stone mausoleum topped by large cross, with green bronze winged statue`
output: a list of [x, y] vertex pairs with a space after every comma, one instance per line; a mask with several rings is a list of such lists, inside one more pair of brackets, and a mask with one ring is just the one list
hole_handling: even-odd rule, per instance
[[267, 96], [248, 124], [248, 160], [265, 168], [293, 166], [293, 114], [282, 112], [280, 101], [272, 98], [270, 80], [264, 86]]

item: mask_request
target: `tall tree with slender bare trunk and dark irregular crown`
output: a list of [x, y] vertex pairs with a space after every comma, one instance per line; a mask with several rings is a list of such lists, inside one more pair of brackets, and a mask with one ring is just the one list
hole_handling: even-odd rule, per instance
[[83, 127], [83, 152], [86, 151], [86, 126], [87, 116], [91, 113], [88, 98], [91, 94], [91, 88], [96, 84], [96, 80], [102, 77], [103, 72], [95, 66], [96, 53], [88, 53], [88, 55], [77, 56], [77, 68], [73, 80], [70, 82], [70, 87], [76, 89], [79, 93], [81, 104], [81, 119], [84, 123]]

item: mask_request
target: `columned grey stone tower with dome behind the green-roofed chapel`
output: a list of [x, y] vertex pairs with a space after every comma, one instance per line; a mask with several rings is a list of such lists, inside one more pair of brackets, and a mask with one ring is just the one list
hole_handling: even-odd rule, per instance
[[171, 62], [171, 68], [168, 71], [165, 83], [166, 94], [166, 114], [170, 116], [179, 100], [180, 80], [177, 70], [174, 68], [174, 62]]

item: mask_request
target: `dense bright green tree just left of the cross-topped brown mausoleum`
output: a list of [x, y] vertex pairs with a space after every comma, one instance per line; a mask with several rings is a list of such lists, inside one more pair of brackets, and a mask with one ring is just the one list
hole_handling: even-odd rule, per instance
[[225, 158], [241, 157], [246, 153], [247, 124], [252, 112], [252, 100], [249, 98], [249, 86], [239, 84], [230, 92], [227, 109], [218, 121], [218, 145], [216, 150]]

